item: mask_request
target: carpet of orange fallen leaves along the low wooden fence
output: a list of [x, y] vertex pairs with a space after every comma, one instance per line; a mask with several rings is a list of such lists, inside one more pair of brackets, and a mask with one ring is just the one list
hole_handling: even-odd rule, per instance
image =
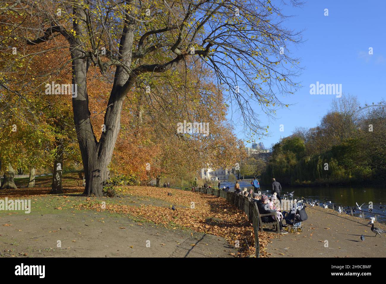
[[[237, 256], [246, 257], [255, 253], [252, 224], [242, 211], [237, 210], [223, 198], [179, 189], [146, 186], [128, 186], [122, 188], [120, 194], [139, 196], [145, 200], [146, 198], [160, 199], [166, 201], [169, 206], [151, 204], [132, 206], [125, 204], [125, 201], [122, 200], [118, 203], [106, 203], [106, 208], [102, 209], [100, 202], [95, 202], [93, 198], [90, 198], [86, 200], [86, 203], [79, 205], [79, 208], [108, 210], [144, 218], [165, 226], [178, 225], [190, 228], [197, 232], [223, 237], [230, 245], [239, 245]], [[173, 205], [176, 210], [171, 209]], [[262, 256], [266, 256], [264, 246], [276, 236], [274, 233], [259, 232]]]

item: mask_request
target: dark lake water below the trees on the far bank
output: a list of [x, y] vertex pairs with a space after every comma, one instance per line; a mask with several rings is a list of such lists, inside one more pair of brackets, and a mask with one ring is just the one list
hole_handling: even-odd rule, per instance
[[[250, 182], [240, 181], [240, 188], [243, 189], [246, 187], [247, 189], [252, 188]], [[222, 182], [220, 186], [229, 186], [232, 191], [234, 189], [234, 183]], [[260, 191], [262, 193], [266, 193], [267, 195], [271, 194], [271, 185], [269, 187], [260, 185]], [[335, 205], [335, 210], [338, 210], [338, 206], [344, 206], [345, 211], [349, 211], [347, 206], [353, 208], [356, 206], [356, 202], [359, 206], [361, 206], [362, 210], [369, 211], [369, 202], [372, 202], [373, 213], [383, 214], [385, 216], [377, 216], [378, 222], [386, 223], [386, 212], [385, 208], [381, 209], [379, 206], [386, 207], [386, 189], [385, 188], [371, 188], [371, 187], [283, 187], [282, 195], [289, 193], [291, 191], [295, 191], [294, 198], [308, 198], [309, 200], [313, 199], [320, 201], [320, 203], [331, 201], [331, 204], [327, 204], [328, 208], [332, 209], [332, 204]], [[369, 219], [369, 217], [374, 217], [374, 214], [364, 213], [365, 218]], [[361, 214], [359, 211], [354, 213], [354, 216], [359, 217]]]

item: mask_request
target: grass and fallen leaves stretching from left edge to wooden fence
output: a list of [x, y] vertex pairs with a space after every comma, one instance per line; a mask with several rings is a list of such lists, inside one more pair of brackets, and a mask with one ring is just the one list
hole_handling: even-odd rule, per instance
[[[181, 232], [188, 229], [225, 238], [230, 246], [239, 245], [237, 250], [230, 253], [237, 257], [247, 257], [255, 253], [253, 228], [247, 216], [223, 198], [179, 189], [147, 186], [120, 188], [120, 197], [117, 198], [81, 196], [82, 187], [69, 187], [64, 194], [58, 195], [50, 195], [49, 191], [49, 188], [7, 189], [0, 191], [0, 198], [31, 199], [32, 215], [29, 216], [43, 216], [55, 212], [59, 214], [63, 211], [67, 216], [75, 218], [79, 213], [106, 212], [115, 216], [127, 216], [140, 223], [148, 222], [156, 227], [162, 226], [172, 231]], [[173, 205], [176, 210], [171, 209]], [[25, 216], [24, 213], [5, 213], [7, 212], [0, 214], [0, 218], [3, 216], [0, 219], [3, 226], [7, 224], [5, 215], [20, 218]], [[103, 220], [99, 221], [104, 223]], [[277, 236], [276, 233], [259, 232], [261, 256], [267, 256], [265, 246], [271, 242], [271, 238]]]

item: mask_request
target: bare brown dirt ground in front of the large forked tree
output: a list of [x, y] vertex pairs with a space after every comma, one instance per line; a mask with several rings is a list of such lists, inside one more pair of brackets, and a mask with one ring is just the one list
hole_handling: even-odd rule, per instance
[[[26, 257], [232, 257], [225, 239], [136, 222], [108, 212], [12, 214], [0, 219], [0, 255]], [[12, 224], [3, 226], [4, 224]], [[61, 247], [57, 247], [58, 240]], [[149, 246], [150, 245], [150, 246]]]

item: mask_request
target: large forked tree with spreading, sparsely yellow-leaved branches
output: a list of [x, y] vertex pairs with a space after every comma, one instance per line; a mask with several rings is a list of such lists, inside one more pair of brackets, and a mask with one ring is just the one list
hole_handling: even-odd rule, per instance
[[[9, 27], [8, 42], [2, 42], [8, 49], [15, 44], [45, 44], [58, 36], [66, 39], [58, 46], [58, 56], [64, 49], [71, 54], [72, 84], [77, 87], [72, 98], [74, 124], [88, 195], [102, 196], [127, 94], [143, 88], [149, 97], [146, 91], [151, 94], [157, 88], [152, 85], [157, 73], [184, 66], [188, 58], [200, 61], [212, 70], [213, 83], [225, 86], [237, 122], [255, 135], [267, 131], [257, 109], [272, 115], [283, 106], [276, 94], [292, 93], [297, 87], [293, 76], [298, 61], [290, 57], [289, 43], [299, 42], [300, 36], [283, 27], [285, 17], [270, 1], [37, 0], [32, 5], [20, 0], [2, 8], [5, 14], [19, 14], [13, 22], [2, 21]], [[88, 103], [91, 65], [112, 79], [105, 131], [99, 140]]]

